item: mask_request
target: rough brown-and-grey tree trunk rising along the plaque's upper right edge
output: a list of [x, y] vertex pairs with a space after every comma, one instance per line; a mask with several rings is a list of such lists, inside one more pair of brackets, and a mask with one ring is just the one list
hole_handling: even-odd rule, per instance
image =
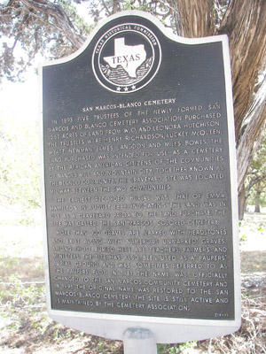
[[232, 0], [219, 32], [230, 38], [240, 194], [265, 122], [266, 81], [254, 92], [265, 68], [266, 1]]

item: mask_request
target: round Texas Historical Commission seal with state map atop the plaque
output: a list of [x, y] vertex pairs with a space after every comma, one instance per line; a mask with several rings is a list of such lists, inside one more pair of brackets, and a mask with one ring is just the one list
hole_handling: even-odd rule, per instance
[[92, 55], [98, 82], [116, 93], [143, 89], [160, 67], [160, 42], [139, 24], [125, 23], [106, 31]]

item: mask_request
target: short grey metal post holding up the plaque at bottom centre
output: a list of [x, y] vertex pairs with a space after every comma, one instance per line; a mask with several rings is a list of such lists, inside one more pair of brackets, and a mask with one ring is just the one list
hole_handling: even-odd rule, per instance
[[145, 328], [128, 328], [124, 333], [124, 354], [157, 354], [153, 333]]

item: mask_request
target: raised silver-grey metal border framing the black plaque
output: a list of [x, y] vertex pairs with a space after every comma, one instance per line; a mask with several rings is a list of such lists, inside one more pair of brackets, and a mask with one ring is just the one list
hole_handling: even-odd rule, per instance
[[[121, 17], [137, 16], [148, 19], [159, 28], [163, 35], [170, 40], [184, 44], [203, 44], [221, 42], [223, 49], [223, 65], [225, 79], [225, 96], [227, 109], [227, 127], [229, 142], [229, 164], [231, 171], [231, 213], [232, 213], [232, 242], [233, 242], [233, 267], [234, 267], [234, 309], [235, 319], [173, 319], [167, 317], [147, 317], [132, 315], [113, 315], [91, 312], [71, 312], [51, 309], [50, 273], [48, 263], [47, 225], [45, 208], [45, 185], [44, 185], [44, 161], [43, 161], [43, 67], [63, 64], [77, 58], [88, 47], [98, 31], [113, 19]], [[132, 19], [130, 20], [132, 21]], [[239, 214], [238, 214], [238, 190], [237, 169], [235, 152], [235, 127], [233, 114], [233, 101], [231, 91], [231, 64], [230, 51], [227, 35], [215, 35], [202, 38], [185, 38], [174, 35], [164, 27], [159, 19], [148, 12], [126, 11], [118, 12], [103, 20], [90, 33], [82, 47], [66, 58], [43, 62], [39, 65], [39, 102], [40, 102], [40, 154], [41, 154], [41, 192], [43, 210], [43, 253], [44, 275], [47, 299], [47, 311], [51, 319], [91, 335], [104, 336], [110, 339], [122, 340], [124, 332], [129, 327], [144, 327], [153, 332], [156, 342], [189, 342], [203, 340], [220, 335], [229, 335], [239, 329], [241, 325], [241, 294], [240, 294], [240, 262], [239, 262]]]

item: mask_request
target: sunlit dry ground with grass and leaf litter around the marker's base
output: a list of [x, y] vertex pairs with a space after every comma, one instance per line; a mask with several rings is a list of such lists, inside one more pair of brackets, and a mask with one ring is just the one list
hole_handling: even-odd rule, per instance
[[[266, 352], [266, 215], [247, 214], [240, 230], [243, 325], [239, 333], [192, 343], [190, 348], [160, 345], [158, 353]], [[122, 342], [86, 335], [48, 318], [41, 227], [0, 225], [0, 245], [1, 353], [123, 353]]]

